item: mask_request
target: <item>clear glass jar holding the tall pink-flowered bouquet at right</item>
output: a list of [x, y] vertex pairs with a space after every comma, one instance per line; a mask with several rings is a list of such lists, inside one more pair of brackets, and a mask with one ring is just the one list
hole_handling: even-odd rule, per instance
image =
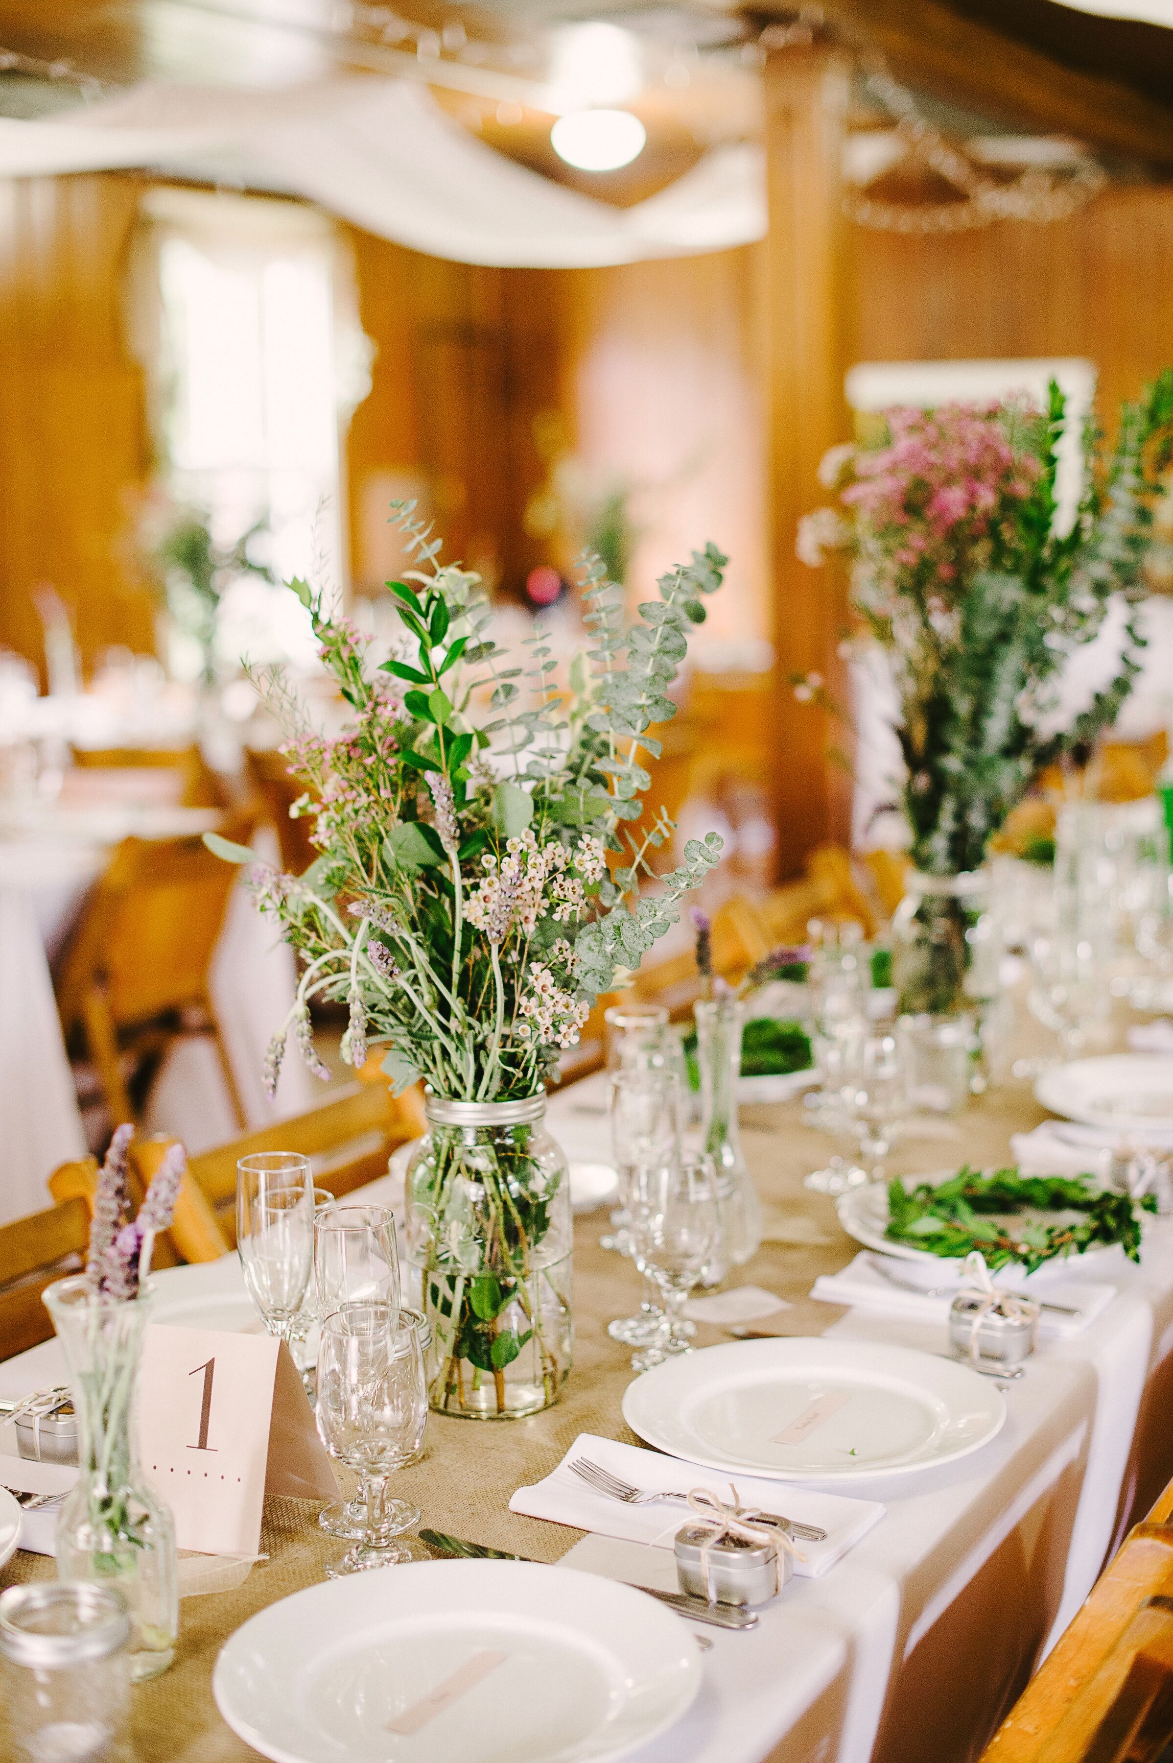
[[912, 871], [891, 920], [891, 980], [898, 1015], [963, 1015], [997, 993], [990, 933], [990, 874]]

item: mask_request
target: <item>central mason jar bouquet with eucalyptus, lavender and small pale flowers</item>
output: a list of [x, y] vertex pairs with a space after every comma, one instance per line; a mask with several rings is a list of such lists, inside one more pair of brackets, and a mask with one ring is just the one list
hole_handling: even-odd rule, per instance
[[479, 578], [440, 566], [430, 529], [395, 506], [419, 568], [389, 584], [403, 628], [391, 659], [368, 666], [358, 631], [291, 584], [354, 710], [345, 733], [312, 733], [280, 677], [264, 682], [294, 725], [285, 751], [314, 786], [299, 807], [321, 857], [294, 878], [208, 843], [252, 864], [261, 906], [301, 956], [287, 1030], [310, 1065], [308, 1005], [326, 998], [349, 1008], [343, 1060], [361, 1067], [377, 1047], [396, 1093], [424, 1081], [407, 1259], [432, 1324], [432, 1402], [505, 1417], [553, 1402], [571, 1365], [569, 1186], [541, 1127], [546, 1079], [720, 852], [715, 834], [689, 841], [639, 890], [671, 830], [662, 813], [645, 820], [641, 760], [660, 751], [648, 728], [675, 714], [666, 691], [726, 559], [694, 552], [634, 622], [588, 562], [592, 643], [562, 695], [541, 635], [505, 665]]

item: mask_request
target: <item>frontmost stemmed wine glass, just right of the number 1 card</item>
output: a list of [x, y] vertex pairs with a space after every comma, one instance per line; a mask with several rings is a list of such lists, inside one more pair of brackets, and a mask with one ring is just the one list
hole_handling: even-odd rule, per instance
[[398, 1305], [358, 1303], [322, 1320], [317, 1421], [329, 1454], [361, 1477], [366, 1509], [361, 1539], [326, 1574], [412, 1560], [395, 1539], [417, 1523], [419, 1507], [389, 1499], [387, 1477], [419, 1453], [428, 1425], [416, 1317]]

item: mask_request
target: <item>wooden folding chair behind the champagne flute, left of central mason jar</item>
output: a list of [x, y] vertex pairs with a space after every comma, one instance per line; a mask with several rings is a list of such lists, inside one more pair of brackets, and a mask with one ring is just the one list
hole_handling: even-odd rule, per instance
[[[236, 1246], [236, 1164], [241, 1157], [254, 1157], [257, 1151], [299, 1151], [310, 1158], [317, 1186], [342, 1195], [386, 1176], [391, 1151], [417, 1137], [423, 1127], [419, 1093], [409, 1090], [396, 1098], [382, 1077], [379, 1082], [347, 1084], [305, 1114], [280, 1120], [273, 1127], [262, 1127], [211, 1151], [201, 1151], [187, 1165], [203, 1208], [188, 1215], [185, 1259], [213, 1261], [224, 1248]], [[130, 1148], [132, 1164], [144, 1169], [146, 1158], [157, 1162], [171, 1142], [164, 1137], [136, 1141]], [[218, 1236], [210, 1234], [208, 1220]], [[197, 1231], [204, 1232], [203, 1248]], [[181, 1246], [174, 1225], [171, 1234], [176, 1246]], [[218, 1248], [218, 1243], [224, 1243], [224, 1248]]]

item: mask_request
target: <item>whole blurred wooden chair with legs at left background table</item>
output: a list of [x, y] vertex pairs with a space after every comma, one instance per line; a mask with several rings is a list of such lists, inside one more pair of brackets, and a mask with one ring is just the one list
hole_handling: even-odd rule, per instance
[[[252, 825], [224, 830], [247, 843]], [[236, 869], [201, 839], [123, 839], [90, 896], [56, 996], [65, 1037], [93, 1060], [116, 1121], [137, 1120], [125, 1056], [141, 1068], [192, 1026], [213, 1035], [236, 1118], [245, 1121], [208, 993], [234, 882]]]

